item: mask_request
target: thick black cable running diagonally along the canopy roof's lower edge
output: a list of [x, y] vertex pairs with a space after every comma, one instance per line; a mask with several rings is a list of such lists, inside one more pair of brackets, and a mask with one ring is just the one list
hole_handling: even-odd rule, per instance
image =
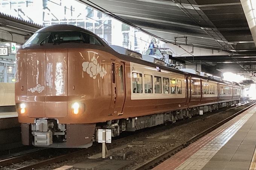
[[[163, 38], [161, 38], [161, 37], [155, 36], [154, 34], [149, 33], [148, 31], [143, 30], [143, 29], [140, 28], [140, 27], [137, 27], [136, 25], [134, 25], [134, 24], [132, 24], [132, 23], [126, 21], [125, 19], [120, 18], [119, 16], [117, 16], [117, 15], [115, 15], [114, 13], [112, 13], [112, 12], [110, 12], [110, 11], [104, 9], [103, 7], [101, 7], [101, 6], [99, 6], [99, 5], [97, 5], [97, 4], [93, 3], [93, 2], [91, 2], [90, 0], [87, 0], [87, 1], [88, 1], [89, 3], [91, 3], [91, 4], [86, 3], [85, 1], [82, 1], [82, 0], [79, 0], [79, 1], [81, 1], [82, 3], [87, 4], [88, 6], [91, 6], [91, 4], [93, 4], [93, 5], [94, 5], [94, 6], [93, 6], [94, 9], [99, 10], [99, 11], [101, 11], [101, 12], [103, 12], [103, 13], [105, 13], [105, 14], [107, 14], [107, 15], [113, 17], [113, 18], [117, 18], [117, 19], [119, 19], [120, 21], [122, 21], [123, 23], [128, 24], [128, 25], [131, 25], [132, 27], [134, 27], [134, 28], [136, 28], [136, 29], [138, 29], [138, 30], [143, 31], [144, 33], [149, 34], [149, 35], [152, 36], [152, 37], [155, 37], [155, 38], [157, 38], [157, 39], [159, 39], [159, 40], [162, 40], [163, 42], [171, 43], [171, 44], [175, 45], [173, 42], [170, 42], [170, 41], [165, 40], [165, 39], [163, 39]], [[96, 7], [95, 7], [95, 6], [96, 6]], [[176, 45], [176, 46], [180, 47], [181, 49], [183, 49], [184, 51], [186, 51], [188, 54], [190, 54], [190, 55], [192, 55], [193, 57], [195, 57], [193, 54], [191, 54], [190, 52], [188, 52], [186, 49], [182, 48], [181, 46], [179, 46], [179, 45]]]

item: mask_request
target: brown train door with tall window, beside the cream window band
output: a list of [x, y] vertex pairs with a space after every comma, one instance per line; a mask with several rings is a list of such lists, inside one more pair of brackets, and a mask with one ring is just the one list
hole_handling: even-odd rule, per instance
[[116, 106], [117, 115], [123, 114], [123, 104], [125, 102], [125, 63], [116, 64]]

